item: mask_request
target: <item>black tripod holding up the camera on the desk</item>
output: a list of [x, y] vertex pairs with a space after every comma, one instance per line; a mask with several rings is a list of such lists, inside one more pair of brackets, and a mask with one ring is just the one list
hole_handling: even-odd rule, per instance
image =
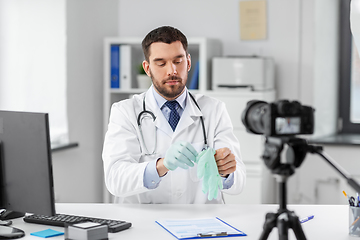
[[[286, 161], [281, 162], [280, 154], [284, 144], [288, 145]], [[279, 183], [279, 210], [276, 213], [267, 213], [263, 232], [260, 240], [268, 238], [274, 227], [278, 228], [279, 239], [288, 239], [288, 230], [291, 228], [298, 240], [306, 240], [301, 228], [299, 218], [294, 212], [286, 208], [286, 181], [288, 177], [295, 173], [295, 168], [300, 167], [306, 154], [316, 153], [323, 157], [335, 170], [337, 170], [356, 191], [360, 192], [360, 185], [343, 170], [335, 161], [331, 160], [322, 153], [321, 146], [309, 145], [306, 140], [295, 137], [267, 137], [265, 142], [264, 154], [262, 156], [265, 165], [275, 175]]]

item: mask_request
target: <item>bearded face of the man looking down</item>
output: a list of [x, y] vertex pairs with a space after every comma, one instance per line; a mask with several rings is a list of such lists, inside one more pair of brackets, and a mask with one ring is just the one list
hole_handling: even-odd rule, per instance
[[191, 60], [180, 41], [155, 42], [150, 45], [149, 62], [144, 61], [143, 67], [155, 90], [165, 99], [173, 100], [185, 90]]

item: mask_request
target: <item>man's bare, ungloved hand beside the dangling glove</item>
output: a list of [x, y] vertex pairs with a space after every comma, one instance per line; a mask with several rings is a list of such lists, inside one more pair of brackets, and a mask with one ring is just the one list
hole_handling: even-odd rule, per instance
[[235, 155], [228, 148], [220, 148], [216, 150], [215, 161], [222, 177], [228, 177], [230, 173], [236, 170]]

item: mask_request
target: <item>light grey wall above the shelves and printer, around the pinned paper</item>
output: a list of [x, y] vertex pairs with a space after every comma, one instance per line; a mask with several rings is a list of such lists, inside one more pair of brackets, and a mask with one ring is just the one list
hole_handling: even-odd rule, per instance
[[[267, 1], [268, 36], [257, 41], [240, 40], [239, 2], [119, 0], [119, 36], [144, 37], [153, 28], [172, 25], [188, 37], [220, 39], [225, 56], [273, 57], [277, 98], [314, 106], [318, 122], [328, 122], [325, 129], [317, 124], [317, 134], [334, 132], [329, 126], [335, 125], [336, 111], [329, 109], [337, 101], [339, 0]], [[324, 103], [324, 96], [330, 102]]]

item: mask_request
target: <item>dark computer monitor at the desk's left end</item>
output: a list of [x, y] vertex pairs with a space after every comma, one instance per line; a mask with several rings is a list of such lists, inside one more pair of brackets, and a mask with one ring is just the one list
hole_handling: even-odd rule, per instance
[[0, 111], [0, 181], [0, 218], [55, 215], [47, 113]]

